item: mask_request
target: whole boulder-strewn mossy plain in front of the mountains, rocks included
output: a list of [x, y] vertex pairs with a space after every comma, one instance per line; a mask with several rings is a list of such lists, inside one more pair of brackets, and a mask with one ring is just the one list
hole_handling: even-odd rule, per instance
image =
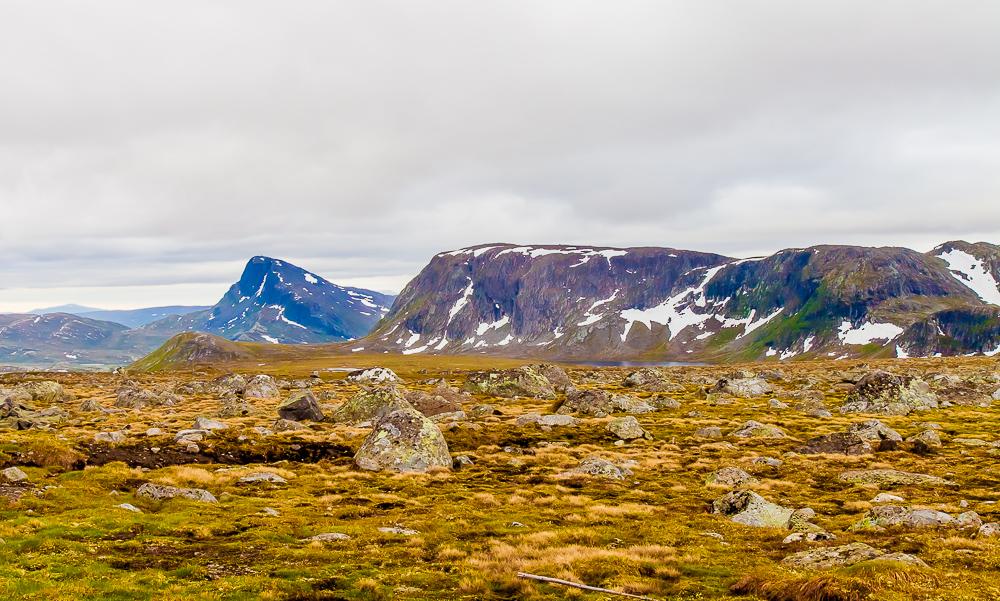
[[478, 361], [4, 374], [0, 597], [1000, 598], [996, 360]]

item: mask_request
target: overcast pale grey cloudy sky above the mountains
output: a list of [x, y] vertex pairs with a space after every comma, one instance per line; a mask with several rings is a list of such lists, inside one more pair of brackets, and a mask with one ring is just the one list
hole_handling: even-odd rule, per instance
[[0, 2], [0, 312], [486, 242], [1000, 243], [1000, 3]]

